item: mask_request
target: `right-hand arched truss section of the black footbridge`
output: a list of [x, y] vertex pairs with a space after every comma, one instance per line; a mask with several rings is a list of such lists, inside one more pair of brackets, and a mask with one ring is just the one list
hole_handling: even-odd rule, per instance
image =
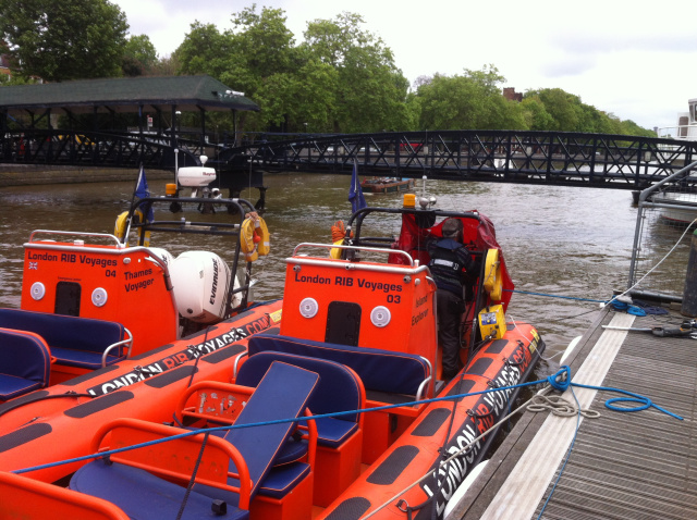
[[266, 170], [637, 189], [697, 158], [697, 141], [553, 132], [448, 131], [297, 136], [236, 149]]

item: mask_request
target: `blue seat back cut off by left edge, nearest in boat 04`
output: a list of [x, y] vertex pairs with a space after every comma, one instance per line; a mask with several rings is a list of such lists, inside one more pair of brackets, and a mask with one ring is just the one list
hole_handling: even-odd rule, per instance
[[51, 352], [38, 334], [0, 329], [0, 400], [48, 385]]

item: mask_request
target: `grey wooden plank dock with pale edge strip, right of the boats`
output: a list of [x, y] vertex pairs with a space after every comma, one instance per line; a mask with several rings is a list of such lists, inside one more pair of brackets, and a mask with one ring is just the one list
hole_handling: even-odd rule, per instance
[[[609, 410], [604, 401], [620, 394], [594, 392], [589, 407], [602, 417], [580, 422], [574, 449], [541, 518], [694, 518], [697, 342], [646, 332], [613, 331], [620, 336], [612, 337], [611, 331], [601, 329], [609, 317], [613, 317], [612, 326], [649, 329], [682, 320], [672, 315], [657, 322], [655, 317], [606, 312], [582, 338], [580, 351], [570, 357], [574, 382], [640, 394], [685, 420], [656, 408], [635, 413]], [[575, 391], [584, 407], [589, 403], [587, 392]], [[565, 428], [559, 425], [564, 421]], [[525, 413], [493, 454], [484, 479], [475, 482], [450, 518], [537, 519], [575, 429], [575, 418]]]

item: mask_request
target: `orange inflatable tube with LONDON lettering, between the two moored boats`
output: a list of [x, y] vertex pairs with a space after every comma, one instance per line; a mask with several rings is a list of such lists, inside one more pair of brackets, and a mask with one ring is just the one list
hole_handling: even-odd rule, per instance
[[[146, 355], [97, 370], [0, 406], [0, 471], [15, 471], [89, 455], [93, 432], [117, 418], [172, 421], [193, 383], [230, 381], [247, 338], [278, 331], [281, 301], [260, 305]], [[83, 462], [29, 474], [54, 482]]]

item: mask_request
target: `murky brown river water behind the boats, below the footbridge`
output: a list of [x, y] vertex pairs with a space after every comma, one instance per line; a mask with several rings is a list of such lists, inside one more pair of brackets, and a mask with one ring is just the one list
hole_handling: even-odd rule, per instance
[[[330, 242], [332, 223], [347, 220], [351, 212], [347, 176], [274, 174], [265, 182], [271, 253], [254, 265], [257, 300], [282, 296], [283, 259], [296, 244]], [[161, 195], [164, 184], [150, 181], [150, 190]], [[440, 209], [476, 209], [492, 220], [516, 289], [608, 300], [612, 289], [626, 288], [637, 211], [626, 190], [445, 181], [428, 181], [426, 187]], [[420, 193], [421, 181], [416, 189]], [[34, 230], [112, 233], [132, 191], [131, 182], [0, 188], [0, 307], [20, 306], [22, 245]], [[254, 202], [258, 191], [242, 197]], [[366, 194], [366, 200], [368, 206], [396, 207], [401, 195]], [[399, 221], [388, 220], [382, 227], [399, 233]], [[164, 246], [152, 238], [154, 246]], [[180, 242], [168, 249], [175, 256], [212, 249], [224, 258], [230, 248], [220, 247]], [[516, 293], [508, 318], [536, 325], [549, 356], [583, 334], [598, 308], [595, 301]]]

